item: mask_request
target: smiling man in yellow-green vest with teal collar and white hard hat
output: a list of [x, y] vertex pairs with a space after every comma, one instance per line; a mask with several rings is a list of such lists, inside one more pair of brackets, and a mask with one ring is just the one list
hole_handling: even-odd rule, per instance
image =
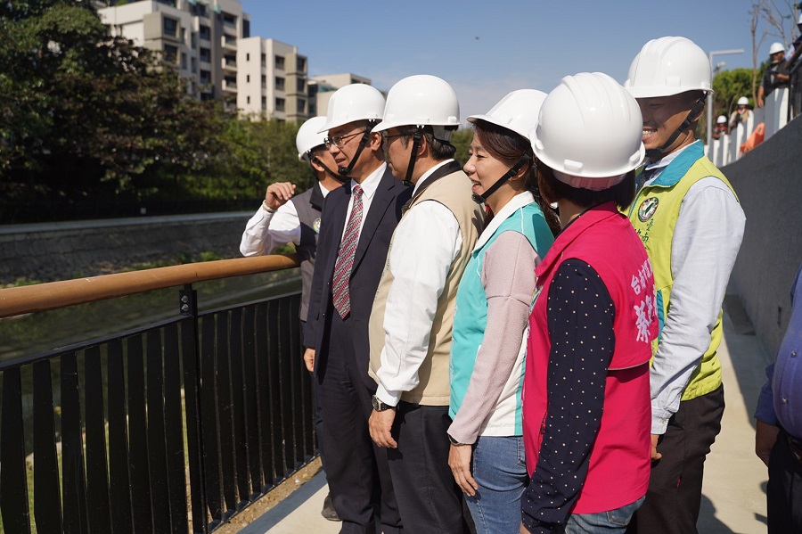
[[746, 218], [694, 135], [711, 82], [698, 45], [661, 37], [643, 45], [624, 84], [641, 108], [647, 156], [629, 218], [649, 252], [660, 325], [651, 366], [651, 479], [627, 532], [697, 532], [705, 456], [724, 414], [716, 349]]

